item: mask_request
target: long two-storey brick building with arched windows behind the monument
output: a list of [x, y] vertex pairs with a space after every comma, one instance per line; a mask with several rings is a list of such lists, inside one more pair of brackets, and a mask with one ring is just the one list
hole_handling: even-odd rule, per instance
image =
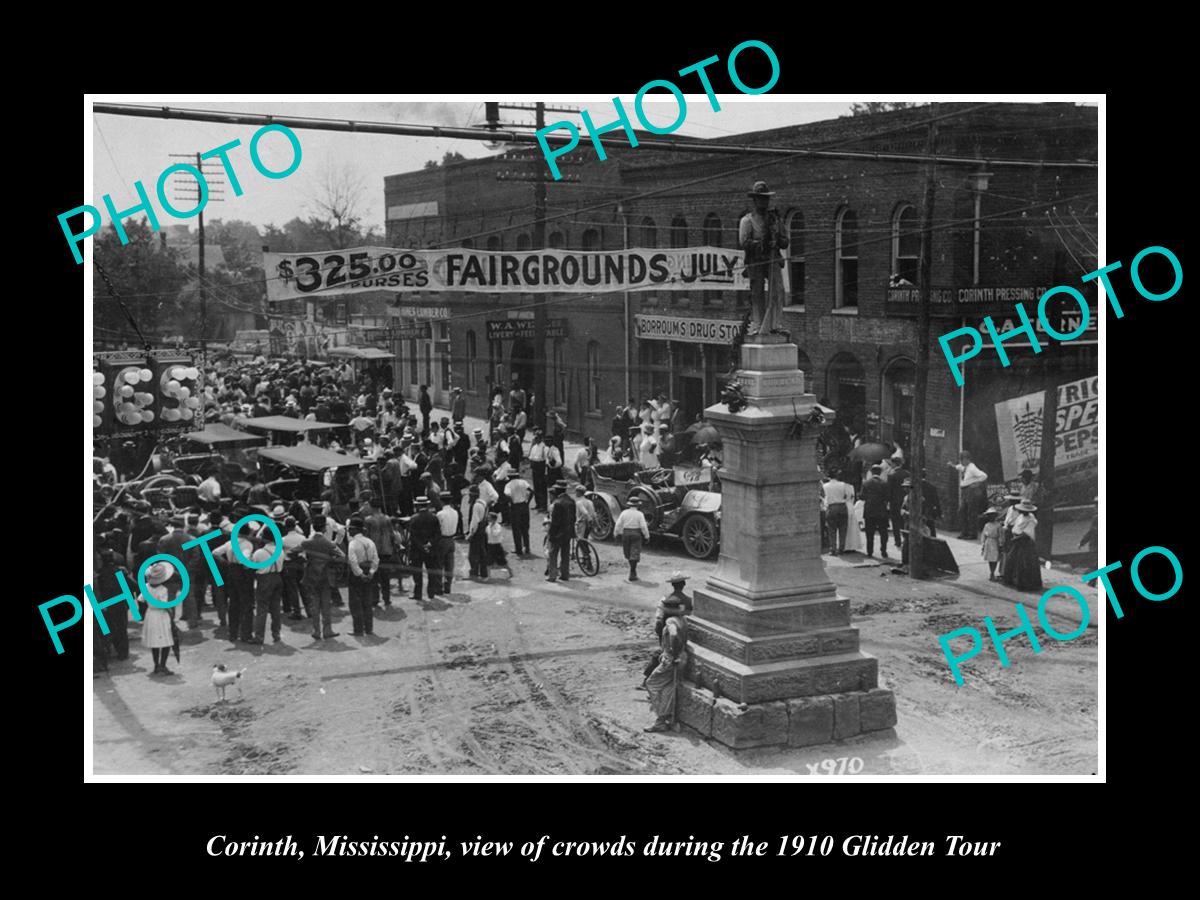
[[[1097, 372], [1094, 289], [1079, 283], [1096, 268], [1096, 170], [986, 162], [1094, 161], [1097, 110], [1067, 103], [973, 106], [938, 107], [940, 115], [956, 115], [938, 122], [936, 148], [938, 155], [979, 161], [937, 168], [925, 442], [930, 475], [950, 500], [955, 478], [947, 463], [960, 446], [974, 452], [994, 482], [1006, 476], [1010, 461], [1001, 458], [997, 402]], [[922, 154], [929, 115], [917, 108], [833, 119], [722, 143]], [[546, 245], [569, 250], [736, 248], [738, 221], [750, 209], [746, 191], [767, 181], [792, 241], [785, 323], [800, 348], [808, 389], [852, 431], [910, 445], [922, 163], [644, 149], [611, 150], [600, 162], [586, 140], [558, 162], [571, 180], [548, 184]], [[530, 176], [544, 168], [540, 154], [520, 150], [389, 176], [388, 242], [528, 250]], [[1067, 344], [1043, 342], [1042, 354], [1006, 342], [1012, 365], [1001, 368], [985, 352], [966, 365], [959, 389], [937, 336], [978, 325], [986, 314], [1012, 326], [1018, 300], [1032, 316], [1040, 294], [1056, 284], [1076, 286], [1088, 298], [1092, 329]], [[716, 402], [720, 379], [736, 364], [730, 335], [737, 329], [700, 329], [713, 335], [703, 340], [664, 340], [660, 332], [677, 331], [664, 326], [680, 319], [740, 323], [749, 302], [748, 292], [734, 290], [541, 296], [551, 330], [539, 354], [532, 294], [397, 295], [391, 310], [398, 317], [397, 389], [415, 396], [415, 385], [427, 383], [436, 401], [445, 402], [451, 386], [462, 386], [469, 412], [479, 415], [493, 382], [508, 386], [516, 374], [532, 388], [544, 359], [548, 403], [575, 436], [602, 444], [613, 406], [629, 397], [666, 394], [689, 415]], [[1074, 305], [1051, 306], [1050, 320], [1069, 322], [1073, 314], [1079, 316]], [[1078, 488], [1088, 499], [1094, 448], [1091, 458], [1092, 481], [1080, 479]]]

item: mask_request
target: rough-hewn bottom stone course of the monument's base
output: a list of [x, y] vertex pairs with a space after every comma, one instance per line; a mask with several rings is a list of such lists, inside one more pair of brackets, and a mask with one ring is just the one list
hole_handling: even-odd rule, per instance
[[738, 703], [680, 680], [678, 702], [679, 721], [734, 750], [817, 746], [896, 724], [895, 696], [882, 688]]

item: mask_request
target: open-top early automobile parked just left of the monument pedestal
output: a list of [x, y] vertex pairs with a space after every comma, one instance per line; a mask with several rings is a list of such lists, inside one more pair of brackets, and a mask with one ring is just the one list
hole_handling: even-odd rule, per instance
[[617, 516], [630, 497], [638, 497], [652, 534], [679, 538], [697, 559], [714, 556], [720, 547], [720, 484], [709, 467], [643, 469], [635, 462], [601, 463], [592, 467], [592, 488], [587, 496], [596, 510], [592, 534], [598, 540], [612, 536]]

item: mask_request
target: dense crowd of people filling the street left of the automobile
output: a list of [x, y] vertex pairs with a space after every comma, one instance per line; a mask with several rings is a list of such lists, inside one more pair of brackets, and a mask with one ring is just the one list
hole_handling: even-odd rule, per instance
[[[178, 619], [190, 629], [199, 626], [202, 611], [211, 605], [216, 636], [235, 644], [263, 644], [268, 623], [271, 640], [281, 641], [284, 617], [310, 620], [313, 638], [325, 641], [338, 636], [331, 607], [348, 605], [353, 634], [370, 636], [374, 611], [391, 606], [395, 595], [410, 592], [424, 602], [450, 593], [458, 544], [466, 544], [469, 577], [487, 581], [496, 569], [511, 577], [504, 534], [510, 530], [517, 557], [533, 556], [532, 511], [558, 517], [551, 527], [554, 569], [547, 565], [547, 578], [568, 577], [570, 536], [586, 536], [595, 512], [582, 484], [568, 490], [565, 426], [557, 413], [551, 412], [546, 430], [530, 426], [530, 398], [514, 383], [503, 408], [493, 404], [487, 434], [484, 428], [468, 433], [461, 390], [454, 392], [450, 416], [436, 420], [425, 385], [412, 409], [389, 383], [386, 368], [355, 372], [348, 364], [305, 360], [257, 358], [208, 370], [205, 422], [236, 426], [282, 415], [330, 424], [336, 427], [304, 432], [299, 440], [349, 455], [355, 464], [326, 469], [316, 485], [318, 496], [301, 499], [296, 479], [269, 480], [257, 470], [230, 468], [229, 460], [215, 455], [192, 476], [198, 484], [191, 493], [176, 490], [169, 499], [157, 499], [148, 491], [148, 499], [126, 490], [149, 464], [132, 442], [121, 442], [95, 460], [96, 589], [109, 592], [106, 598], [119, 594], [122, 577], [133, 584], [131, 572], [157, 553], [170, 553], [187, 569], [190, 589]], [[589, 442], [577, 454], [574, 474], [586, 481], [590, 466], [612, 458]], [[180, 497], [190, 503], [180, 505]], [[560, 500], [553, 512], [552, 498]], [[275, 529], [251, 522], [234, 548], [233, 524], [252, 512], [269, 517]], [[206, 542], [206, 551], [184, 548], [214, 532], [218, 536]], [[256, 570], [239, 557], [278, 558]], [[148, 571], [162, 574], [154, 566]], [[148, 586], [175, 598], [182, 580], [172, 571], [169, 580], [148, 580]], [[138, 600], [146, 608], [146, 599]], [[125, 659], [127, 623], [118, 618], [97, 647]], [[166, 634], [173, 638], [168, 649], [178, 653], [175, 619], [172, 610]], [[163, 640], [161, 629], [152, 634]], [[167, 671], [166, 654], [160, 660], [155, 648], [156, 674]]]

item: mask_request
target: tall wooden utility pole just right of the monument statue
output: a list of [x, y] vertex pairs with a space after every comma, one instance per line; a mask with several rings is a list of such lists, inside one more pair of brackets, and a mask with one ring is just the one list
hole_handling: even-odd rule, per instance
[[[929, 124], [925, 151], [932, 156], [937, 146], [936, 103], [930, 108], [935, 121]], [[920, 266], [917, 298], [917, 383], [913, 386], [912, 404], [912, 487], [908, 492], [908, 572], [913, 578], [925, 577], [924, 541], [920, 529], [925, 523], [924, 478], [925, 470], [925, 394], [929, 390], [929, 292], [932, 269], [934, 180], [935, 163], [925, 167], [925, 197], [922, 200]], [[959, 389], [961, 390], [961, 388]]]

